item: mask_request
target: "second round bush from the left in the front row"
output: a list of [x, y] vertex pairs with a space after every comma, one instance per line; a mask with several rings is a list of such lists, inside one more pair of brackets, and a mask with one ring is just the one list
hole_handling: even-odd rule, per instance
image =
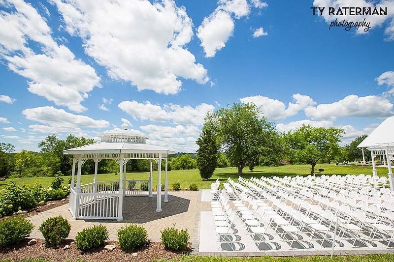
[[45, 220], [39, 230], [44, 236], [46, 247], [56, 247], [68, 236], [71, 225], [60, 216], [55, 216]]

